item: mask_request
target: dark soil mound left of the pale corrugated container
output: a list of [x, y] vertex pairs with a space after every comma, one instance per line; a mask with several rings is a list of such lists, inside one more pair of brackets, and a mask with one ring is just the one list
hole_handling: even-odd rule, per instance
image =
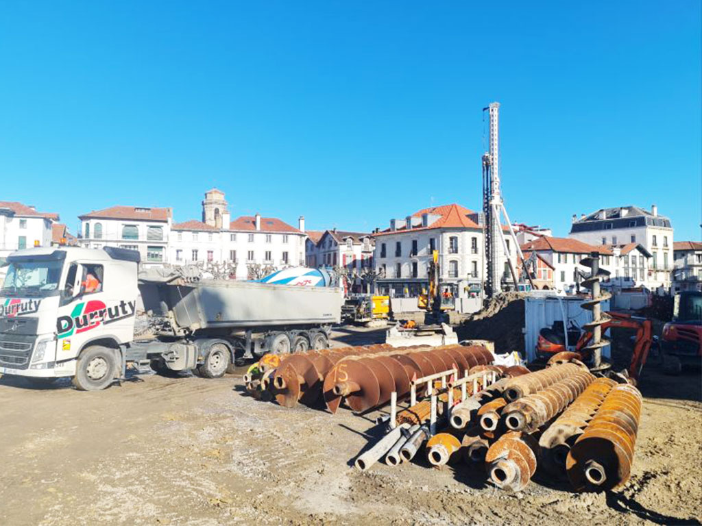
[[503, 292], [456, 328], [459, 340], [488, 339], [497, 353], [524, 354], [524, 293]]

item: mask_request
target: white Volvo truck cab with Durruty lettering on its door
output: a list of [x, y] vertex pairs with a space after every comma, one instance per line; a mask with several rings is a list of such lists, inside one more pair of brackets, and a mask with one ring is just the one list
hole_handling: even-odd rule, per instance
[[109, 385], [121, 371], [138, 300], [139, 254], [78, 247], [13, 252], [0, 289], [0, 374], [79, 389]]

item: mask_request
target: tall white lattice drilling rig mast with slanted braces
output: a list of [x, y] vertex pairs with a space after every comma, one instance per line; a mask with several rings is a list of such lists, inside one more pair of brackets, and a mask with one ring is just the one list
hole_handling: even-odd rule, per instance
[[[504, 215], [505, 222], [510, 231], [512, 244], [517, 252], [519, 261], [522, 262], [522, 269], [526, 268], [522, 249], [519, 248], [515, 229], [512, 228], [510, 217], [505, 208], [500, 187], [500, 135], [499, 116], [500, 103], [492, 102], [488, 107], [483, 108], [483, 112], [489, 113], [489, 151], [482, 156], [482, 177], [483, 177], [483, 238], [485, 241], [485, 261], [487, 265], [487, 277], [484, 285], [485, 297], [490, 298], [502, 292], [502, 274], [505, 262], [508, 264], [515, 290], [519, 287], [517, 271], [510, 259], [510, 250], [507, 238], [502, 228], [501, 215]], [[534, 288], [531, 276], [526, 273], [527, 280]]]

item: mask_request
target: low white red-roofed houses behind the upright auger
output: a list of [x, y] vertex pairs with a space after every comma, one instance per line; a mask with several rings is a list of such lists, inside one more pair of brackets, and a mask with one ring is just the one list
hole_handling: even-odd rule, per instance
[[536, 252], [552, 268], [555, 290], [574, 292], [578, 271], [587, 274], [590, 270], [580, 264], [581, 259], [597, 252], [600, 268], [609, 271], [609, 278], [629, 278], [630, 286], [651, 288], [648, 281], [648, 266], [651, 254], [638, 243], [623, 246], [590, 245], [577, 239], [543, 236], [522, 245], [523, 252]]

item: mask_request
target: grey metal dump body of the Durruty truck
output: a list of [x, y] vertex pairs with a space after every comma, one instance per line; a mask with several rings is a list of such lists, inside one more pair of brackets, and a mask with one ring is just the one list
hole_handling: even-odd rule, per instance
[[340, 322], [336, 287], [270, 285], [255, 281], [141, 276], [145, 310], [168, 316], [176, 332]]

